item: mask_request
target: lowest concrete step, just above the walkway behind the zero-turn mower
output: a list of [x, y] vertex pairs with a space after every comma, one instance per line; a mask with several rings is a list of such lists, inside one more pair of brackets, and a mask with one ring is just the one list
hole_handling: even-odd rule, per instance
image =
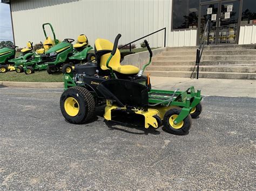
[[[144, 74], [151, 74], [151, 76], [163, 77], [196, 77], [195, 72], [186, 71], [159, 71], [159, 70], [146, 70]], [[256, 79], [256, 73], [234, 73], [234, 72], [199, 72], [201, 78], [214, 78], [214, 79]]]

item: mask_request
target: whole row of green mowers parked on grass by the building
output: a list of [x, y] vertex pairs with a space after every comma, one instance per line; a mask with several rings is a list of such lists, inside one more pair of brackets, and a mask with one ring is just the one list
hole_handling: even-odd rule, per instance
[[[53, 40], [46, 34], [45, 26], [49, 25], [53, 34]], [[85, 63], [95, 59], [94, 53], [89, 53], [92, 47], [84, 34], [78, 36], [77, 44], [74, 39], [56, 39], [55, 32], [50, 23], [43, 24], [45, 41], [43, 48], [33, 51], [33, 43], [27, 43], [27, 47], [21, 50], [21, 54], [15, 58], [17, 46], [0, 49], [0, 72], [16, 71], [32, 74], [36, 70], [47, 70], [49, 74], [62, 70], [62, 73], [71, 73], [77, 63]]]

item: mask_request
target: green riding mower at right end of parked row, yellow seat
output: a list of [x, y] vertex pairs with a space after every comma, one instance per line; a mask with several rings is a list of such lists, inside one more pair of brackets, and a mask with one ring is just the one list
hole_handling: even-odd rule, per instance
[[89, 53], [92, 49], [88, 45], [88, 39], [84, 34], [78, 36], [78, 43], [72, 45], [74, 39], [64, 39], [64, 41], [46, 51], [43, 60], [48, 64], [49, 74], [58, 72], [61, 68], [62, 73], [71, 73], [73, 66], [77, 63], [85, 63], [95, 59], [95, 54]]

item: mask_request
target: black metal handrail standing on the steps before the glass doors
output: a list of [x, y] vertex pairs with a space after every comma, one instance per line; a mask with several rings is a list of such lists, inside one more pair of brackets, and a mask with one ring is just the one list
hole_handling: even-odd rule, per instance
[[[205, 43], [207, 41], [207, 45], [209, 45], [209, 34], [210, 34], [210, 29], [211, 29], [211, 21], [210, 19], [207, 20], [207, 24], [204, 29], [203, 36], [199, 42], [199, 48], [197, 49], [197, 59], [196, 59], [196, 66], [197, 66], [197, 79], [199, 77], [199, 66], [200, 66], [200, 61], [201, 57], [203, 55]], [[206, 40], [207, 38], [207, 40]]]

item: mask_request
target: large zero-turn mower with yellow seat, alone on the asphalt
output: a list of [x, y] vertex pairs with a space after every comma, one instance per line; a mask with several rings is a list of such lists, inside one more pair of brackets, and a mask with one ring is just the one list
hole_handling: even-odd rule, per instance
[[60, 97], [60, 110], [64, 118], [73, 124], [89, 122], [95, 108], [106, 104], [104, 118], [112, 119], [112, 111], [125, 111], [144, 116], [145, 128], [159, 128], [167, 132], [185, 135], [191, 128], [191, 118], [201, 114], [201, 95], [194, 87], [186, 91], [151, 89], [149, 75], [131, 65], [120, 65], [122, 53], [117, 48], [120, 34], [114, 45], [105, 39], [97, 39], [95, 53], [97, 63], [76, 65], [73, 73], [64, 75], [65, 91]]

